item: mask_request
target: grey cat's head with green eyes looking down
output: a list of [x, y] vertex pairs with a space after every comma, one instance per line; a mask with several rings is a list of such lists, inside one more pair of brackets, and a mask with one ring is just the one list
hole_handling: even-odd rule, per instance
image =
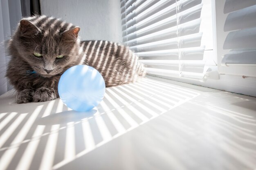
[[36, 73], [52, 77], [63, 73], [75, 59], [79, 31], [79, 27], [52, 17], [24, 18], [13, 36], [13, 44]]

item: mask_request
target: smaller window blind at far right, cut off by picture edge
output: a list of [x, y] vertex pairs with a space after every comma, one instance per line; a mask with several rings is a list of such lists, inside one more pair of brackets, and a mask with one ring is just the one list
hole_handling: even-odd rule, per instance
[[219, 70], [256, 77], [256, 1], [216, 1]]

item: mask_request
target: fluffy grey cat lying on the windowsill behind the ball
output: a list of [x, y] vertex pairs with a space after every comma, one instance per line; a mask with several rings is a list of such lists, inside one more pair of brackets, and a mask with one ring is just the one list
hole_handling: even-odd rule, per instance
[[[143, 65], [128, 47], [102, 40], [81, 41], [79, 31], [77, 26], [45, 15], [20, 21], [9, 41], [7, 69], [7, 77], [18, 92], [17, 103], [55, 99], [60, 76], [74, 65], [96, 68], [107, 87], [135, 82], [145, 75]], [[64, 57], [57, 59], [58, 55]]]

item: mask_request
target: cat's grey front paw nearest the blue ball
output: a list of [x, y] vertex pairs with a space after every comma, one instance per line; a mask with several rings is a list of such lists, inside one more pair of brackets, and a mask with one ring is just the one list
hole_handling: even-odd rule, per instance
[[56, 93], [53, 88], [41, 87], [36, 89], [33, 95], [34, 102], [46, 102], [56, 99]]

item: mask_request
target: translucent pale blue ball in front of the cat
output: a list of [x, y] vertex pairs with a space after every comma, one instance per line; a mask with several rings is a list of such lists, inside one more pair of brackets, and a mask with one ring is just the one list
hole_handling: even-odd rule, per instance
[[61, 75], [58, 94], [67, 107], [83, 112], [97, 106], [105, 94], [101, 74], [91, 66], [72, 66]]

